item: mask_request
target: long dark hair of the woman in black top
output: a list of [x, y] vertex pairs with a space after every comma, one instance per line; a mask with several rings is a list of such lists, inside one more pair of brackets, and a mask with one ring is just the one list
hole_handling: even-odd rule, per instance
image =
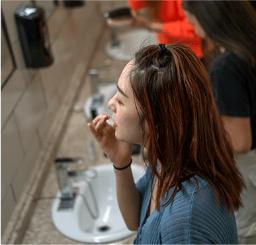
[[182, 7], [196, 17], [210, 40], [256, 67], [256, 11], [249, 1], [184, 0]]

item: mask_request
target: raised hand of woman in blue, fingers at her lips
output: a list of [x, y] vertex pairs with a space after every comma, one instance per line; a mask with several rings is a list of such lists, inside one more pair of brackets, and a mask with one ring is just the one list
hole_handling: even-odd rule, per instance
[[106, 122], [109, 118], [110, 116], [101, 114], [93, 120], [94, 126], [91, 123], [87, 125], [114, 166], [122, 168], [130, 162], [132, 144], [116, 139], [114, 127]]

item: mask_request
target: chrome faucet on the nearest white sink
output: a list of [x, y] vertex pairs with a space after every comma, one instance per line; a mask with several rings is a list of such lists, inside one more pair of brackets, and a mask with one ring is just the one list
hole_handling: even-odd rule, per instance
[[68, 164], [81, 164], [82, 158], [57, 158], [54, 162], [62, 203], [60, 209], [72, 209], [75, 202], [75, 192], [69, 178]]

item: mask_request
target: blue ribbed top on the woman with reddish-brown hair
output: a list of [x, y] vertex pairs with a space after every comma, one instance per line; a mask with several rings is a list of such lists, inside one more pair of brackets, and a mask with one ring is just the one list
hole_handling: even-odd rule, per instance
[[[197, 193], [196, 178], [199, 185]], [[147, 217], [151, 199], [151, 171], [138, 181], [142, 209], [140, 228], [134, 244], [238, 244], [234, 212], [228, 213], [225, 205], [216, 199], [208, 183], [194, 176], [191, 182], [183, 182], [167, 207], [153, 211]], [[168, 196], [171, 196], [173, 188]], [[196, 194], [197, 193], [197, 194]]]

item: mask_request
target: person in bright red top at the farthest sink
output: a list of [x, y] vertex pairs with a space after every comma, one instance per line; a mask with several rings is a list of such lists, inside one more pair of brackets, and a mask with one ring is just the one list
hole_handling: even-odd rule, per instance
[[[199, 58], [202, 58], [200, 36], [194, 33], [194, 27], [189, 24], [179, 1], [141, 1], [128, 0], [134, 26], [149, 28], [157, 32], [159, 44], [179, 42], [187, 44]], [[148, 17], [142, 17], [138, 11], [148, 7]]]

